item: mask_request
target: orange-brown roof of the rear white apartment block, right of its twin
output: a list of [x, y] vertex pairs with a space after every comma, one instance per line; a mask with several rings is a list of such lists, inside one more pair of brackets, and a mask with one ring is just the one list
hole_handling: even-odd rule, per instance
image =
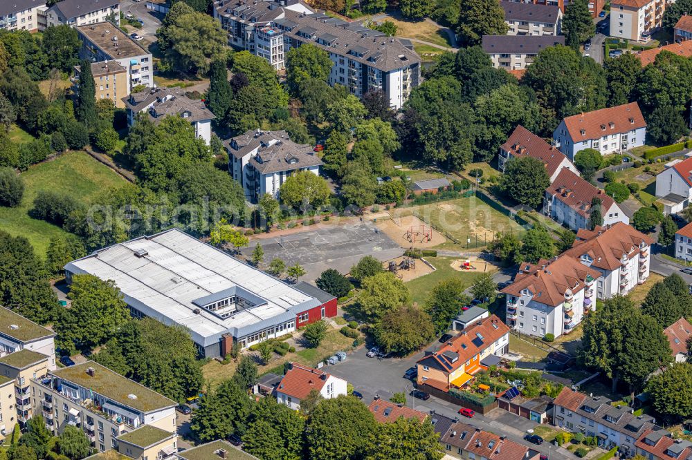
[[621, 259], [631, 259], [639, 253], [639, 246], [651, 245], [653, 239], [623, 222], [609, 227], [597, 227], [593, 231], [579, 229], [574, 245], [563, 253], [576, 259], [586, 254], [592, 260], [591, 266], [614, 270], [621, 265]]

